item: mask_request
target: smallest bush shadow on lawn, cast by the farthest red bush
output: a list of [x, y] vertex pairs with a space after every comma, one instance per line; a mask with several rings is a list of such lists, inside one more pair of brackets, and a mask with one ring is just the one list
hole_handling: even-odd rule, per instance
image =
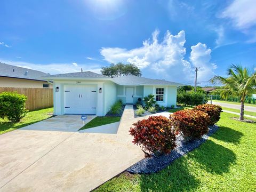
[[224, 142], [233, 143], [234, 145], [238, 145], [243, 135], [244, 134], [242, 132], [235, 131], [229, 127], [219, 126], [219, 130], [211, 137]]

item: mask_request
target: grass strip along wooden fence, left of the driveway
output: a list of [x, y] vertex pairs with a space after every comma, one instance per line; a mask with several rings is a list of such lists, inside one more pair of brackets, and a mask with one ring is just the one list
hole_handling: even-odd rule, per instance
[[23, 117], [20, 120], [20, 122], [10, 122], [6, 118], [4, 119], [0, 118], [0, 134], [13, 131], [23, 126], [27, 126], [27, 125], [42, 121], [44, 119], [50, 118], [52, 117], [52, 115], [48, 115], [48, 114], [52, 112], [53, 112], [53, 108], [30, 111], [27, 113], [25, 117]]

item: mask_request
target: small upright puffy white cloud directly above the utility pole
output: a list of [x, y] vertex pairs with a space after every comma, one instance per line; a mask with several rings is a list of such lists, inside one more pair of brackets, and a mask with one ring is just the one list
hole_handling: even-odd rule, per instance
[[190, 61], [198, 71], [198, 81], [208, 81], [214, 75], [213, 69], [217, 68], [215, 63], [210, 63], [212, 50], [206, 44], [197, 43], [191, 46]]

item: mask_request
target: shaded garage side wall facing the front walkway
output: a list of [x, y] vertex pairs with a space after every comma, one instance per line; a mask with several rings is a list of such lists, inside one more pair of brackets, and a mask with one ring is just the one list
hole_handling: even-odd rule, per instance
[[110, 110], [111, 106], [116, 102], [117, 97], [116, 97], [116, 84], [110, 81], [106, 81], [103, 84], [103, 93], [104, 93], [104, 114], [106, 115], [108, 111]]

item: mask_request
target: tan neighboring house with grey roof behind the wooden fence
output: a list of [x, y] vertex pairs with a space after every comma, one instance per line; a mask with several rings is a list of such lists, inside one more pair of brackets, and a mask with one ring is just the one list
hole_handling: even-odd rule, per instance
[[49, 74], [0, 63], [0, 87], [52, 88], [42, 76]]

